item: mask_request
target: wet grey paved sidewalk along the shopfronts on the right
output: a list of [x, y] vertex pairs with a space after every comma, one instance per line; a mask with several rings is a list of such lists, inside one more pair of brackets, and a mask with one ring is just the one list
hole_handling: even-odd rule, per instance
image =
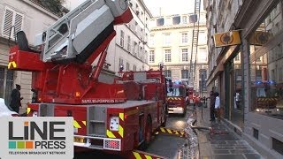
[[195, 107], [197, 122], [195, 125], [212, 127], [209, 131], [196, 130], [199, 142], [200, 159], [259, 159], [262, 158], [247, 141], [228, 130], [223, 121], [210, 122], [210, 108]]

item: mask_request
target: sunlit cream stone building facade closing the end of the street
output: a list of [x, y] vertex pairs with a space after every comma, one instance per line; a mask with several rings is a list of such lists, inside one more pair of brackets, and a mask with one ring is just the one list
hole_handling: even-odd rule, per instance
[[[180, 80], [189, 84], [190, 59], [195, 64], [195, 53], [192, 55], [193, 23], [189, 22], [192, 14], [169, 15], [151, 19], [149, 36], [149, 65], [158, 69], [164, 64], [164, 75], [172, 81]], [[195, 92], [206, 95], [207, 79], [207, 45], [205, 11], [201, 11], [198, 51], [195, 64]], [[193, 77], [192, 77], [193, 78]], [[202, 86], [203, 84], [203, 86]]]

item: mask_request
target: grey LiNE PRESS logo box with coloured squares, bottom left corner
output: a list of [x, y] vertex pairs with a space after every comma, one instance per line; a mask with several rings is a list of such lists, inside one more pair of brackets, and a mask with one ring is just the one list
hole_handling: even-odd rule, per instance
[[8, 117], [0, 124], [0, 158], [73, 158], [73, 117]]

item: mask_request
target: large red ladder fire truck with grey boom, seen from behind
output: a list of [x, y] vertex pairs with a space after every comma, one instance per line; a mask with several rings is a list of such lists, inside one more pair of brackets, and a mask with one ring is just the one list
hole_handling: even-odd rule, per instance
[[126, 1], [88, 0], [37, 36], [40, 51], [19, 32], [8, 67], [33, 72], [38, 102], [28, 104], [27, 116], [73, 117], [75, 147], [124, 153], [148, 145], [166, 122], [162, 70], [98, 81], [113, 26], [132, 18]]

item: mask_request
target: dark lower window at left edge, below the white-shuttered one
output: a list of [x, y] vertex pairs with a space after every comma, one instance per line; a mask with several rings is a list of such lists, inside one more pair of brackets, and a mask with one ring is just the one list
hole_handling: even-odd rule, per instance
[[5, 104], [11, 101], [11, 91], [13, 89], [14, 72], [4, 67], [0, 67], [0, 98], [4, 98]]

